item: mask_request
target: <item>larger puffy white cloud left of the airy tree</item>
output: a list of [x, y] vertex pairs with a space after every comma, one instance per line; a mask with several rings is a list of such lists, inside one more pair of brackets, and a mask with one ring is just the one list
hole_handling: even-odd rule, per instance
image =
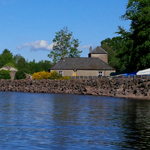
[[52, 50], [54, 43], [48, 45], [47, 41], [38, 40], [36, 42], [25, 43], [17, 47], [17, 49], [23, 49], [25, 47], [29, 47], [31, 51], [37, 50]]

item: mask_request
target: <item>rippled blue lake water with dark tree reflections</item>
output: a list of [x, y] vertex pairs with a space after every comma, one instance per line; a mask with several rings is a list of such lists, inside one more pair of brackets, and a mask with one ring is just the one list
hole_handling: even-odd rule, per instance
[[0, 150], [150, 149], [150, 101], [0, 92]]

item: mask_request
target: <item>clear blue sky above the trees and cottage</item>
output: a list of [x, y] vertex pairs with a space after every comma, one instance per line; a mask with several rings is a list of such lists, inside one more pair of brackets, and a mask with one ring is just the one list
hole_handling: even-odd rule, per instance
[[128, 0], [0, 0], [0, 53], [5, 48], [13, 55], [36, 62], [51, 60], [55, 32], [63, 27], [80, 42], [81, 57], [89, 46], [100, 46], [116, 36], [118, 26], [129, 29], [130, 22], [120, 16]]

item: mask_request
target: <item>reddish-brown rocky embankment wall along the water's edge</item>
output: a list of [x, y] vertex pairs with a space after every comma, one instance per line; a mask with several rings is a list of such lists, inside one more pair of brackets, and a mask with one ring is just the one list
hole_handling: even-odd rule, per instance
[[64, 93], [150, 100], [150, 77], [74, 80], [3, 80], [0, 91]]

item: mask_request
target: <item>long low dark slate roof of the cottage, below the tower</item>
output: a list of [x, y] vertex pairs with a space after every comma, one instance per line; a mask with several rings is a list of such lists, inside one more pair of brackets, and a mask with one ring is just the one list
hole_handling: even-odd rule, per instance
[[51, 67], [51, 70], [114, 70], [99, 58], [63, 58]]

